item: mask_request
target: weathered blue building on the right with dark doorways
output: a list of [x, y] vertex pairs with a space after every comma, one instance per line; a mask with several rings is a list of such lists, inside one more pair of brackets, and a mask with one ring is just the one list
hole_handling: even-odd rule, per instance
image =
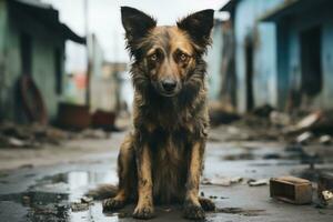
[[[333, 2], [231, 0], [236, 107], [331, 109]], [[223, 58], [222, 58], [223, 60]]]

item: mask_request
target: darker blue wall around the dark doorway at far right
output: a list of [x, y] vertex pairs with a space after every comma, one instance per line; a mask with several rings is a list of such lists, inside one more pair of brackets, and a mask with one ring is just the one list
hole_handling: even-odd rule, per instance
[[[282, 20], [278, 24], [279, 48], [279, 103], [285, 107], [289, 89], [292, 82], [300, 82], [301, 42], [300, 33], [306, 29], [320, 26], [322, 29], [321, 59], [323, 89], [312, 101], [310, 109], [333, 108], [333, 3], [311, 8], [309, 11], [296, 13], [294, 17]], [[294, 83], [293, 83], [294, 84]], [[300, 84], [300, 83], [299, 83]], [[300, 85], [297, 85], [300, 88]]]

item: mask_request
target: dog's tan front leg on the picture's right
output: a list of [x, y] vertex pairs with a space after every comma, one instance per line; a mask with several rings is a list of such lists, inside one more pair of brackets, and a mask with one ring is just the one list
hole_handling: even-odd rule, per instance
[[204, 141], [195, 142], [191, 150], [184, 202], [184, 216], [191, 220], [202, 220], [205, 216], [198, 198], [203, 152]]

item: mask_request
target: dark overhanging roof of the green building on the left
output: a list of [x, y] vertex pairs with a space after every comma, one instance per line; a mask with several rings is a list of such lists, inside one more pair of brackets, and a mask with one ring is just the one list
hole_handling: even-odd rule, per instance
[[30, 13], [38, 21], [47, 24], [46, 27], [60, 33], [64, 39], [72, 40], [78, 43], [85, 43], [85, 38], [74, 33], [68, 26], [59, 21], [59, 12], [51, 4], [43, 3], [40, 0], [9, 0], [14, 9]]

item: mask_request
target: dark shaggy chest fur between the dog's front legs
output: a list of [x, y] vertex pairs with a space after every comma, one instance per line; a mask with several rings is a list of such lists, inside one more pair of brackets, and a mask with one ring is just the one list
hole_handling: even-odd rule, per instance
[[184, 198], [191, 148], [195, 139], [204, 137], [208, 127], [204, 102], [205, 97], [195, 98], [191, 105], [170, 98], [151, 99], [138, 110], [140, 132], [152, 153], [157, 202], [179, 202]]

